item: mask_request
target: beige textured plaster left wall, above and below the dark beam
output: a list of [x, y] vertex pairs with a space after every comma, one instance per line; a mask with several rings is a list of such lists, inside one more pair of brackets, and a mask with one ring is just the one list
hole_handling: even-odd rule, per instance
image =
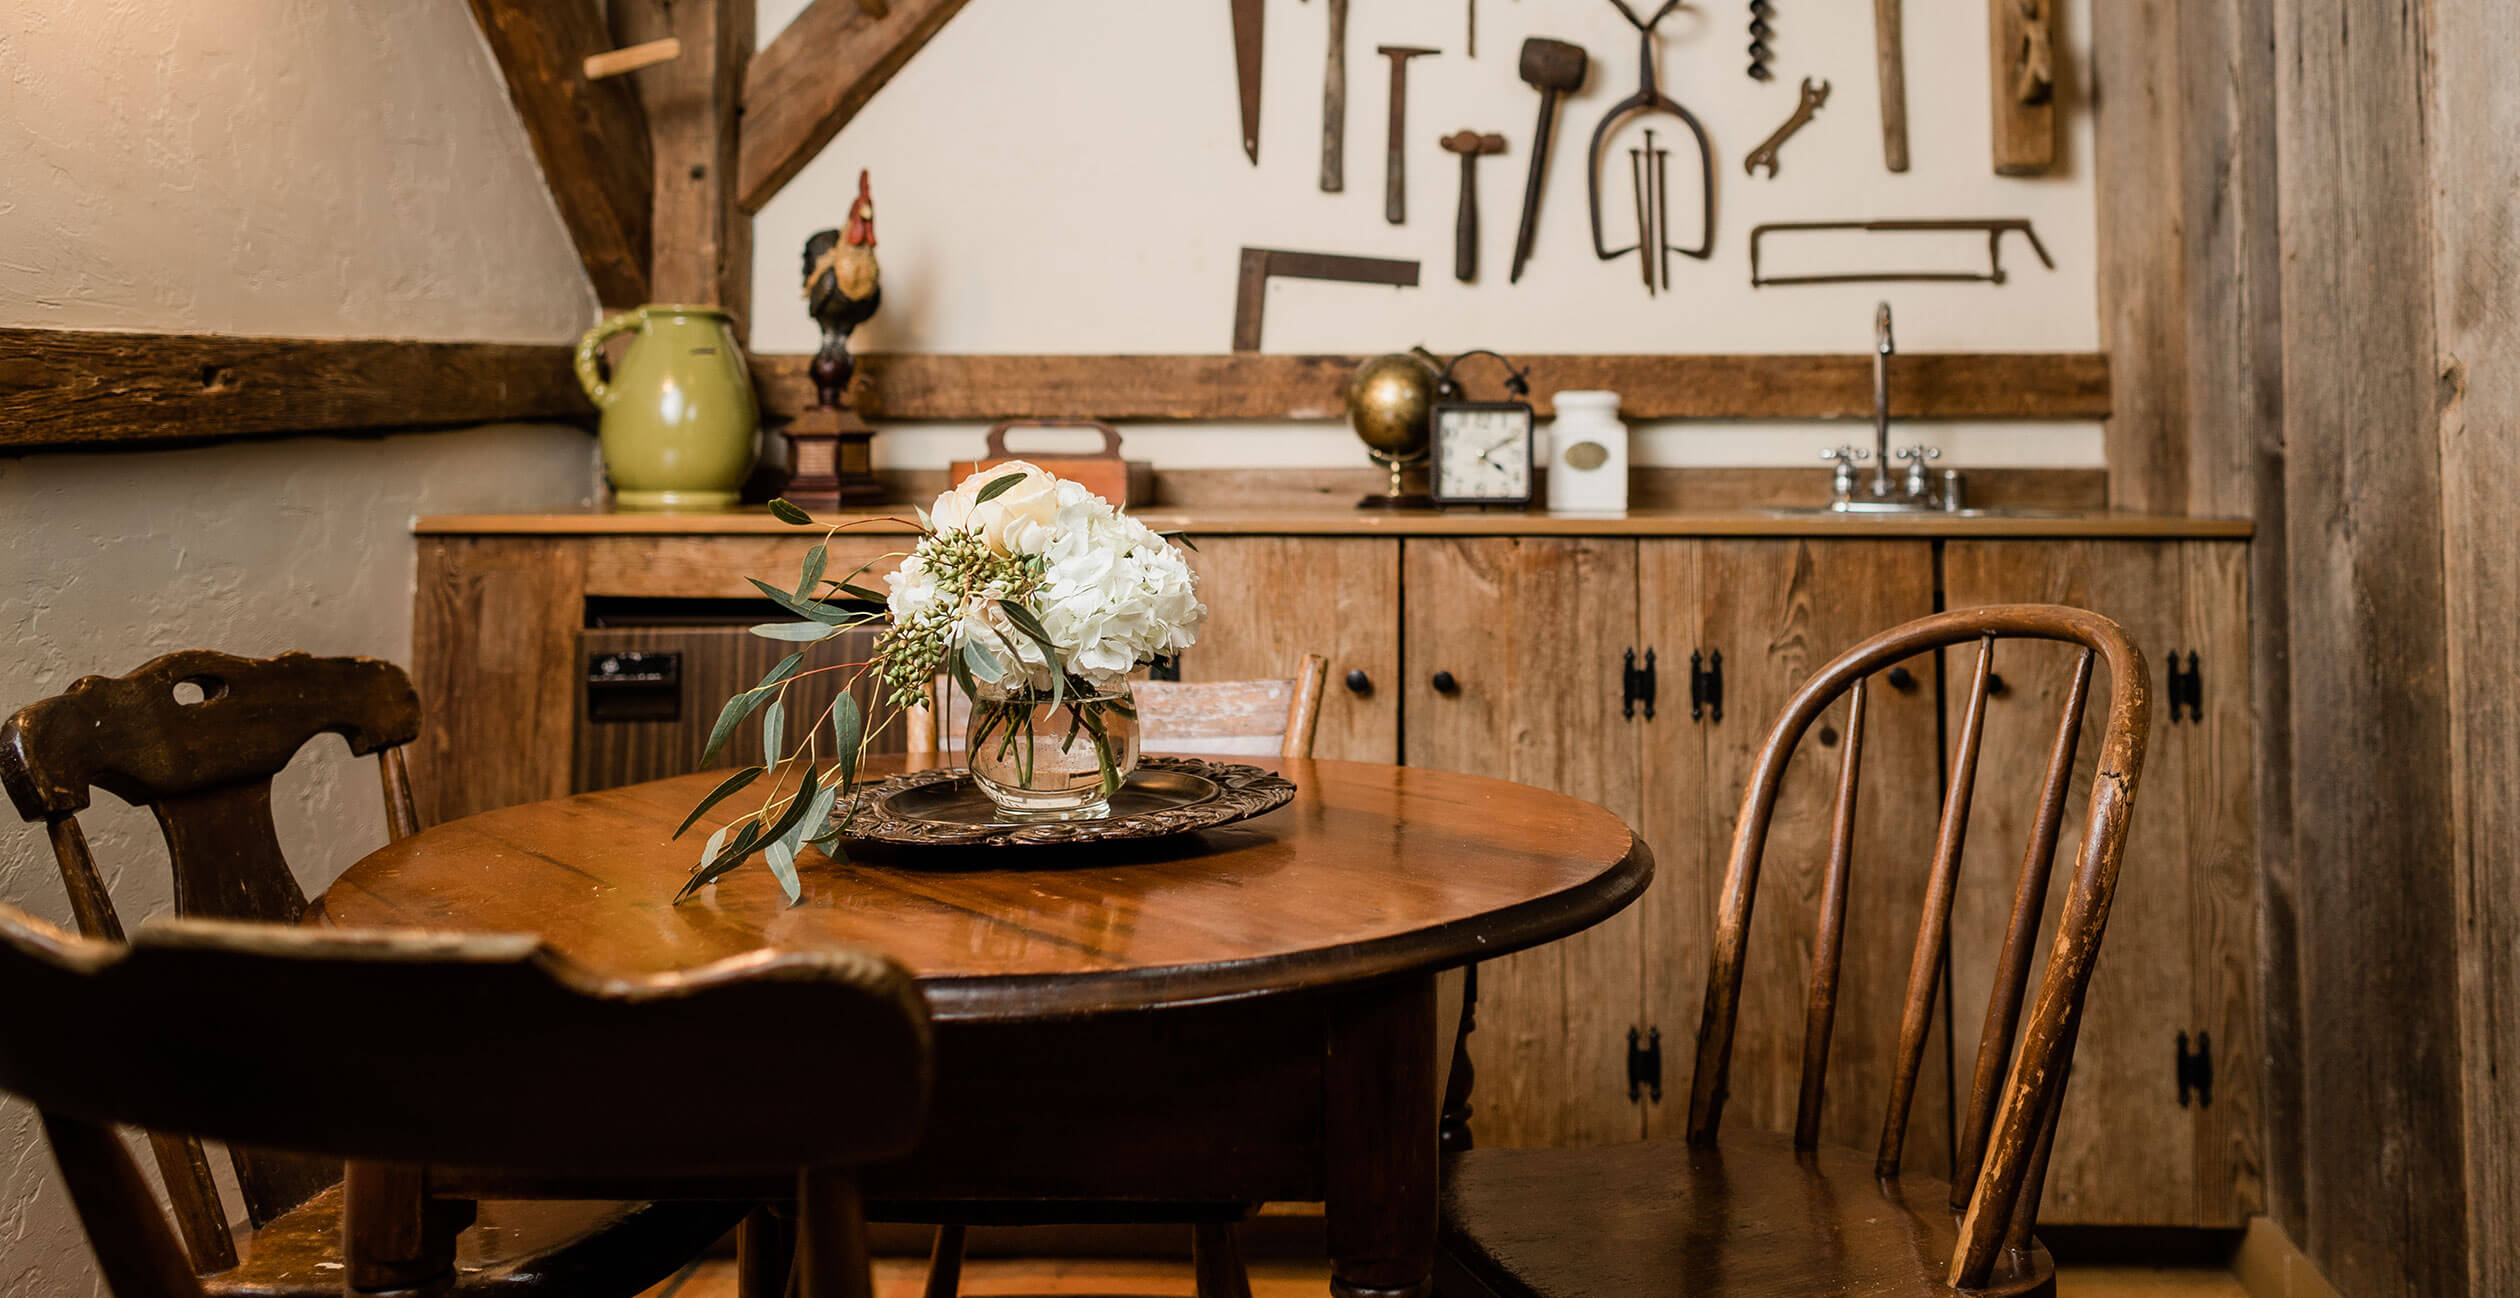
[[[0, 325], [562, 340], [595, 297], [464, 0], [15, 0]], [[572, 504], [559, 426], [0, 459], [0, 708], [184, 645], [408, 658], [416, 512]], [[307, 887], [383, 842], [338, 741], [282, 779]], [[129, 920], [149, 817], [86, 817]], [[0, 900], [68, 922], [43, 834]], [[0, 1104], [0, 1298], [101, 1293], [33, 1114]]]

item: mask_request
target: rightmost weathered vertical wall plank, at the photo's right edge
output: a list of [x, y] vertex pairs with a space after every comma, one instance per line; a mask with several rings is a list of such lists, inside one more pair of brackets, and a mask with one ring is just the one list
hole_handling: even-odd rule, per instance
[[2449, 761], [2470, 1293], [2520, 1293], [2520, 13], [2432, 3]]

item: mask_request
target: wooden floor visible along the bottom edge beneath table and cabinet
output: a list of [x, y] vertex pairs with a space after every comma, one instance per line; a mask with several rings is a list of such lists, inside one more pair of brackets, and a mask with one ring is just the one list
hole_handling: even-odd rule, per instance
[[[920, 1298], [922, 1258], [874, 1263], [874, 1298]], [[1252, 1263], [1252, 1298], [1323, 1298], [1328, 1263]], [[1189, 1263], [1116, 1258], [973, 1258], [963, 1298], [1192, 1298]], [[736, 1298], [736, 1263], [701, 1260], [643, 1298]], [[2248, 1298], [2240, 1280], [2213, 1268], [2076, 1265], [2056, 1278], [2056, 1298]]]

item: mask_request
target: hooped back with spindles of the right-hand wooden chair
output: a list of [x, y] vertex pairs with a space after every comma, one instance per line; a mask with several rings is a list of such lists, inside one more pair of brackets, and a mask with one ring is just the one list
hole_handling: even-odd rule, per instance
[[[2076, 668], [2082, 683], [2064, 723], [2066, 731], [2079, 728], [2084, 708], [2082, 701], [2087, 698], [2094, 665], [2107, 668], [2109, 673], [2109, 701], [2089, 809], [2084, 814], [2082, 847], [2076, 849], [2056, 935], [2049, 945], [2046, 965], [2039, 978], [2036, 996], [2031, 998], [2019, 1048], [1996, 1048], [1996, 1059], [2008, 1054], [2011, 1066], [1998, 1084], [1993, 1119], [1986, 1122], [1988, 1134], [1981, 1142], [1983, 1154], [1971, 1159], [1966, 1167], [1966, 1175], [1973, 1177], [1973, 1190], [1968, 1192], [1966, 1212], [1961, 1217], [1961, 1240], [1950, 1258], [1950, 1285], [1961, 1290], [1983, 1288], [2006, 1240], [2026, 1240], [2031, 1225], [2036, 1222], [2039, 1192], [2046, 1177], [2046, 1147], [2054, 1142], [2064, 1076], [2071, 1064], [2074, 1026], [2092, 980], [2092, 965], [2099, 955], [2099, 938], [2107, 925], [2109, 902], [2117, 892], [2119, 857], [2124, 854], [2127, 822], [2134, 812], [2134, 789], [2142, 774], [2145, 736], [2150, 733], [2152, 718], [2150, 678], [2145, 673], [2142, 650], [2134, 648], [2117, 623], [2089, 610], [2059, 605], [1993, 605], [1938, 612], [1933, 617], [1890, 628], [1850, 648], [1794, 691], [1784, 713], [1777, 718], [1774, 728], [1769, 728], [1741, 789], [1741, 814], [1734, 822], [1724, 890], [1716, 897], [1716, 933], [1706, 970], [1706, 1008], [1698, 1021], [1696, 1074], [1691, 1076], [1688, 1091], [1688, 1139], [1709, 1147], [1716, 1142], [1724, 1114], [1726, 1071], [1731, 1066], [1751, 912], [1759, 890], [1759, 864], [1767, 852], [1767, 834], [1777, 814], [1784, 771], [1797, 744], [1840, 696], [1855, 693], [1857, 686], [1872, 673], [1905, 658], [1915, 658], [1918, 653], [1976, 643], [1978, 665], [1971, 675], [1971, 688], [1961, 713], [1958, 746], [1948, 771], [1950, 789], [1943, 799], [1933, 857], [1928, 862], [1925, 905], [1918, 920], [1918, 943], [1910, 960], [1908, 996], [1900, 1016], [1900, 1046], [1895, 1059], [1898, 1071], [1893, 1076], [1893, 1096], [1882, 1122], [1882, 1144], [1877, 1152], [1880, 1172], [1898, 1175], [1908, 1106], [1915, 1096], [1925, 1036], [1933, 1023], [1933, 1003], [1943, 980], [1958, 864], [1978, 776], [1978, 751], [1983, 744], [1986, 698], [1993, 683], [1993, 643], [2006, 638], [2056, 640], [2084, 650], [2082, 665]], [[2071, 771], [2071, 751], [2064, 754], [2061, 766], [2051, 761], [2051, 786], [2056, 784], [2059, 769]], [[1850, 784], [1845, 769], [1840, 771], [1840, 781], [1842, 786]], [[1847, 814], [1850, 799], [1852, 794], [1842, 789], [1840, 817]], [[2051, 796], [2049, 801], [2059, 799]], [[2034, 842], [2029, 844], [2026, 859], [2046, 862], [2054, 857], [2059, 832], [2061, 807], [2054, 817], [2046, 812], [2041, 814], [2041, 827], [2034, 827]], [[2039, 887], [2044, 890], [2046, 870], [2034, 870], [2034, 875], [2041, 875]], [[1840, 849], [1835, 842], [1830, 887], [1842, 890]], [[2044, 900], [2044, 892], [2039, 900]], [[2036, 928], [2036, 905], [2029, 905], [2026, 910], [2031, 915], [2031, 928]], [[1835, 965], [1837, 960], [1842, 928], [1837, 933], [1827, 933], [1827, 928], [1842, 925], [1842, 907], [1835, 917], [1830, 915], [1830, 907], [1824, 907], [1822, 925], [1827, 940], [1814, 948], [1814, 1006], [1822, 1001], [1819, 980], [1835, 980], [1835, 968], [1822, 970], [1817, 965]], [[2024, 973], [2031, 963], [2026, 950], [2029, 948], [2024, 945], [2024, 955], [2019, 960]], [[1814, 1023], [1817, 1016], [1807, 1016], [1807, 1076], [1799, 1127], [1809, 1127], [1819, 1104], [1814, 1089], [1824, 1086], [1824, 1079], [1809, 1076], [1812, 1061], [1822, 1069], [1827, 1061], [1827, 1028], [1814, 1033]], [[1986, 1046], [1981, 1043], [1981, 1056], [1983, 1048]], [[1802, 1139], [1802, 1132], [1797, 1132], [1797, 1139]]]

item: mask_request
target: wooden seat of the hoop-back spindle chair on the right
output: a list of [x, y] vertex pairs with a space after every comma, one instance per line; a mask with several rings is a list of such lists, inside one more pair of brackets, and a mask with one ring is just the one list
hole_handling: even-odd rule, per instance
[[[1472, 1149], [1444, 1164], [1446, 1298], [1950, 1298], [1961, 1215], [1935, 1177], [1872, 1177], [1872, 1154], [1731, 1132], [1714, 1147]], [[2031, 1240], [1971, 1298], [2056, 1290]]]

